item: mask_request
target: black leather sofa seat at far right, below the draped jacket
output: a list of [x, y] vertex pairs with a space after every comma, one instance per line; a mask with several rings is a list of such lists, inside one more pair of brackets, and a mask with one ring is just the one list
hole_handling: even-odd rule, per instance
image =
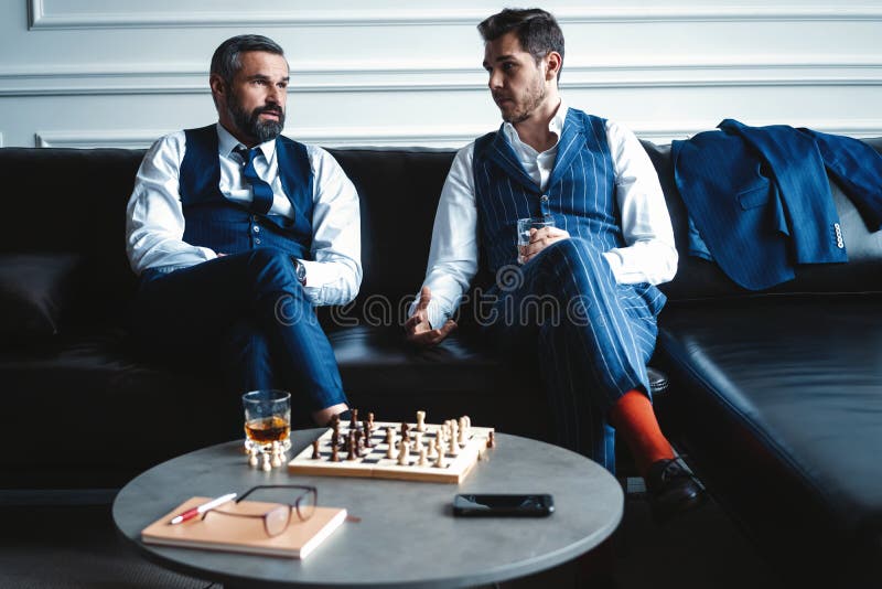
[[665, 421], [776, 549], [882, 557], [880, 304], [764, 296], [663, 312]]

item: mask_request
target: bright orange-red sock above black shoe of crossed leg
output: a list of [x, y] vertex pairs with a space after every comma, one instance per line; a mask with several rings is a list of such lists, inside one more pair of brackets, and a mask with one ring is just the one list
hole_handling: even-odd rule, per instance
[[653, 411], [653, 404], [639, 390], [628, 390], [610, 411], [612, 426], [625, 438], [634, 454], [641, 475], [646, 474], [649, 464], [658, 460], [674, 458], [670, 447]]

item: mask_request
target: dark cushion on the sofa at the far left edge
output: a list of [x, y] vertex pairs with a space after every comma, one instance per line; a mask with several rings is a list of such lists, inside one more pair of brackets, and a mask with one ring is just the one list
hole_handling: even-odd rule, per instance
[[56, 335], [75, 302], [76, 254], [0, 255], [0, 335], [7, 344]]

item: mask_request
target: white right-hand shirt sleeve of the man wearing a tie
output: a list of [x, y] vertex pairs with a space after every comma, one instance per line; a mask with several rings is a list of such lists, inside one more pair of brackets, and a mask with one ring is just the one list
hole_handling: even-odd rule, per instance
[[362, 285], [362, 225], [358, 192], [334, 158], [308, 146], [313, 172], [311, 260], [306, 294], [313, 304], [345, 304]]

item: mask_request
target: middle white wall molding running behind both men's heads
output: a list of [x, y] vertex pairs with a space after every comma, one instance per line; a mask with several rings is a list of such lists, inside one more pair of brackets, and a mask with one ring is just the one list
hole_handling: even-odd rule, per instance
[[[118, 67], [118, 66], [117, 66]], [[203, 66], [0, 68], [0, 97], [204, 94]], [[882, 57], [848, 61], [818, 57], [798, 61], [658, 62], [648, 64], [568, 65], [561, 89], [690, 88], [723, 86], [880, 86]], [[486, 74], [475, 67], [413, 64], [330, 64], [298, 68], [292, 64], [291, 93], [483, 90]]]

